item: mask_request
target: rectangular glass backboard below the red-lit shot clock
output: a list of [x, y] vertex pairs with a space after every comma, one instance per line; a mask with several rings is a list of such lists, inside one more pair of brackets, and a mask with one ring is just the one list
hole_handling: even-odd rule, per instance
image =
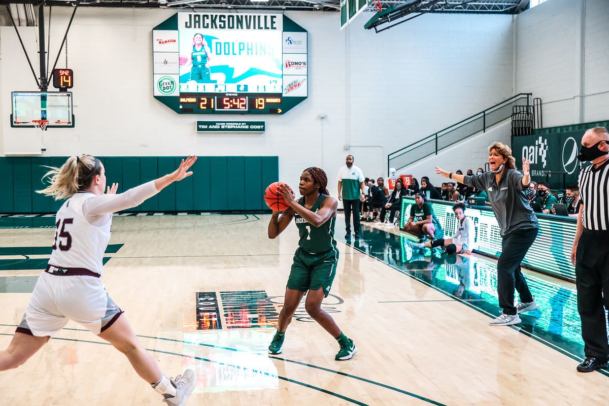
[[15, 91], [11, 101], [11, 127], [36, 127], [35, 121], [41, 119], [49, 121], [48, 128], [74, 127], [71, 92]]

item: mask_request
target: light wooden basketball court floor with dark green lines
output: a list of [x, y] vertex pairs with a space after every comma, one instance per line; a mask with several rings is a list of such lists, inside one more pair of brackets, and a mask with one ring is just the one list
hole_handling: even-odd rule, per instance
[[[578, 354], [534, 331], [488, 326], [490, 315], [477, 309], [482, 299], [426, 282], [432, 267], [409, 273], [407, 265], [399, 270], [372, 257], [371, 233], [354, 246], [339, 241], [339, 268], [324, 303], [356, 342], [357, 355], [335, 361], [336, 341], [304, 305], [283, 354], [267, 354], [297, 247], [294, 225], [267, 239], [268, 220], [252, 214], [113, 219], [116, 252], [107, 253], [102, 279], [166, 374], [195, 370], [188, 405], [608, 404], [609, 394], [599, 390], [607, 373], [576, 373]], [[48, 247], [53, 236], [52, 228], [0, 230], [2, 348], [40, 273], [23, 264], [45, 258], [18, 251]], [[551, 311], [541, 306], [542, 313]], [[3, 373], [0, 393], [3, 404], [32, 406], [161, 404], [122, 354], [75, 323], [25, 365]]]

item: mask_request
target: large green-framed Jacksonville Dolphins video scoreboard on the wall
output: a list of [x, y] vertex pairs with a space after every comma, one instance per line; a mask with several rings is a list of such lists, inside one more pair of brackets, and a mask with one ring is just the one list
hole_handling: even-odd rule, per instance
[[176, 13], [152, 32], [154, 96], [184, 114], [282, 114], [308, 96], [307, 32], [281, 14]]

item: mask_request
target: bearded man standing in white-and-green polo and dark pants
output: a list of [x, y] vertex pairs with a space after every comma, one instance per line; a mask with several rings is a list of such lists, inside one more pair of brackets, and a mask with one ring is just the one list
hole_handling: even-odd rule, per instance
[[339, 200], [345, 209], [346, 239], [351, 238], [351, 212], [353, 212], [353, 231], [359, 238], [359, 202], [364, 201], [364, 173], [353, 164], [353, 155], [347, 155], [345, 166], [339, 170]]

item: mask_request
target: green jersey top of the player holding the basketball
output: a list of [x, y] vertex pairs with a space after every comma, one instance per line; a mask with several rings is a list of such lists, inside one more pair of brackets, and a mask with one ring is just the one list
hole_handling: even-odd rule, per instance
[[[315, 201], [315, 204], [311, 208], [311, 211], [319, 211], [323, 200], [325, 200], [327, 197], [329, 196], [320, 194], [319, 198], [317, 198], [317, 201]], [[298, 204], [305, 206], [305, 198], [301, 197], [300, 200], [298, 200]], [[300, 235], [298, 247], [302, 248], [303, 251], [311, 254], [319, 254], [336, 248], [336, 240], [334, 240], [334, 224], [336, 223], [336, 217], [330, 217], [328, 221], [319, 227], [312, 226], [298, 213], [296, 213], [294, 216], [294, 220], [296, 222], [296, 226], [298, 227], [298, 234]]]

